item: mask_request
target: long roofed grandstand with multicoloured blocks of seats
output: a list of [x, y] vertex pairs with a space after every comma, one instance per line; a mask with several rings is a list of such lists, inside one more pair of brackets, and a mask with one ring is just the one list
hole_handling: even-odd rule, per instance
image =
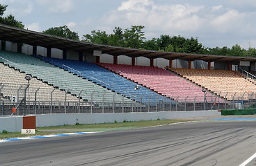
[[[26, 74], [32, 78], [24, 104], [39, 108], [45, 102], [47, 113], [62, 113], [70, 103], [74, 113], [226, 109], [255, 103], [255, 77], [248, 77], [256, 71], [252, 57], [105, 46], [3, 25], [0, 31], [0, 105], [12, 95], [24, 98]], [[239, 67], [252, 72], [244, 75]]]

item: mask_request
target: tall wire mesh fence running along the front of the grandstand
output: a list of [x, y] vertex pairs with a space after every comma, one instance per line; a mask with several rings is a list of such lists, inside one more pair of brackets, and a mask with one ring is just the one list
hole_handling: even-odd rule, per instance
[[[86, 93], [86, 91], [83, 91]], [[96, 91], [90, 98], [71, 95], [70, 92], [59, 93], [55, 89], [29, 88], [29, 85], [0, 84], [0, 116], [10, 116], [12, 108], [16, 108], [14, 115], [42, 114], [42, 113], [131, 113], [154, 111], [200, 111], [213, 109], [243, 109], [253, 107], [256, 93], [212, 93], [205, 91], [204, 96], [170, 95], [152, 97], [152, 95], [134, 96], [113, 93], [111, 98], [104, 98]], [[242, 94], [242, 95], [238, 95]], [[116, 95], [120, 95], [119, 98]], [[229, 99], [227, 100], [227, 95]]]

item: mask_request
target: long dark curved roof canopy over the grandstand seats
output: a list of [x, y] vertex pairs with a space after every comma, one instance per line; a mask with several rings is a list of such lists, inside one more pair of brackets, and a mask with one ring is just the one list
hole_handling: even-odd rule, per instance
[[58, 48], [60, 50], [102, 50], [102, 53], [108, 53], [110, 55], [127, 55], [128, 57], [147, 57], [165, 59], [184, 59], [184, 60], [204, 60], [206, 62], [239, 62], [248, 61], [256, 62], [255, 57], [230, 57], [221, 55], [198, 55], [188, 53], [172, 53], [163, 52], [157, 50], [142, 50], [135, 48], [124, 48], [118, 46], [107, 46], [103, 44], [92, 44], [87, 42], [81, 42], [73, 39], [67, 39], [64, 37], [57, 37], [53, 35], [47, 35], [44, 33], [38, 33], [32, 30], [25, 30], [22, 28], [15, 28], [0, 24], [0, 39], [29, 44], [31, 46], [42, 46], [45, 48]]

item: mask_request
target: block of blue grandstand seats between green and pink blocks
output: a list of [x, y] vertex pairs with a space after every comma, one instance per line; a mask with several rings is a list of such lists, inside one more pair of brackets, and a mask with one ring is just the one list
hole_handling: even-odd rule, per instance
[[[134, 98], [134, 100], [137, 100], [138, 102], [147, 104], [150, 99], [151, 103], [155, 103], [156, 100], [162, 101], [163, 98], [165, 98], [163, 95], [150, 91], [150, 89], [145, 88], [145, 86], [138, 85], [131, 80], [120, 77], [96, 64], [42, 56], [37, 57], [45, 60], [45, 62], [72, 71], [72, 73], [76, 73], [77, 75], [81, 75], [81, 77], [92, 80], [97, 84], [102, 84], [102, 86], [106, 86], [106, 88], [109, 88], [112, 91], [126, 95], [129, 98]], [[135, 89], [136, 86], [139, 86], [139, 90]], [[166, 98], [166, 101], [167, 100], [169, 99]]]

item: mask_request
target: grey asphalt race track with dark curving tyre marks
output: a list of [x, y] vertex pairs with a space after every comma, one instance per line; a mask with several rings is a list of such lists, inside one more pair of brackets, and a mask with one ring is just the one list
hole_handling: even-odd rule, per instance
[[4, 142], [0, 165], [241, 165], [255, 133], [256, 119], [213, 120]]

